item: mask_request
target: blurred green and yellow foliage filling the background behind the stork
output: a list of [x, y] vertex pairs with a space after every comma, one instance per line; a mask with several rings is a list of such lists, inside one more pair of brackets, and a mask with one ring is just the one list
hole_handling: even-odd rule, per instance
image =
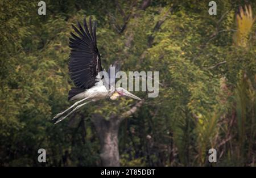
[[85, 15], [97, 20], [103, 66], [159, 71], [159, 96], [135, 92], [146, 100], [122, 122], [121, 166], [255, 166], [255, 1], [216, 1], [209, 15], [199, 0], [57, 0], [41, 16], [38, 2], [0, 1], [0, 166], [100, 166], [92, 114], [108, 118], [134, 100], [98, 101], [49, 122], [71, 105], [68, 38]]

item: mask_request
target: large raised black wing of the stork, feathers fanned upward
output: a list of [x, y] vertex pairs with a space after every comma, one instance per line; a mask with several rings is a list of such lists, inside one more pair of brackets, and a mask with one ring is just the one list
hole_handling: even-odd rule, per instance
[[79, 22], [77, 27], [72, 25], [77, 35], [71, 32], [72, 37], [69, 38], [69, 47], [71, 48], [69, 72], [75, 86], [79, 89], [77, 91], [93, 87], [97, 82], [96, 76], [98, 72], [102, 71], [101, 58], [96, 41], [96, 22], [94, 22], [92, 28], [92, 20], [89, 18], [88, 26], [85, 18], [84, 28]]

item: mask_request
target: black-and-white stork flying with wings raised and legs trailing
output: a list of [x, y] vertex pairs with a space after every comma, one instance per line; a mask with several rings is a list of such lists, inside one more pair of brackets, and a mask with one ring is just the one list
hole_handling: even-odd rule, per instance
[[[107, 98], [115, 100], [119, 96], [129, 96], [130, 98], [141, 100], [122, 87], [115, 88], [113, 84], [110, 87], [105, 86], [106, 82], [104, 78], [100, 76], [102, 66], [100, 53], [97, 49], [96, 22], [94, 22], [92, 28], [92, 19], [89, 18], [88, 25], [89, 28], [85, 18], [84, 28], [82, 28], [79, 22], [77, 23], [78, 28], [72, 25], [77, 35], [71, 32], [72, 37], [69, 38], [69, 47], [71, 48], [69, 73], [71, 73], [71, 79], [76, 87], [72, 87], [69, 91], [68, 100], [80, 100], [53, 117], [53, 120], [59, 118], [55, 124], [64, 120], [64, 118], [91, 101]], [[113, 67], [117, 69], [117, 62], [115, 62]], [[110, 73], [110, 68], [108, 73]], [[73, 110], [71, 111], [71, 109]], [[67, 115], [65, 115], [65, 113], [67, 113]]]

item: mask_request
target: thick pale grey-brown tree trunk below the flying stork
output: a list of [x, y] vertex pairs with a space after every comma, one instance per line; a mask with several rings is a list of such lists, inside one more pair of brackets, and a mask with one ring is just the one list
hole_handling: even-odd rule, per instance
[[104, 117], [97, 115], [92, 121], [100, 139], [102, 166], [120, 166], [118, 150], [119, 120], [110, 118], [107, 121]]

